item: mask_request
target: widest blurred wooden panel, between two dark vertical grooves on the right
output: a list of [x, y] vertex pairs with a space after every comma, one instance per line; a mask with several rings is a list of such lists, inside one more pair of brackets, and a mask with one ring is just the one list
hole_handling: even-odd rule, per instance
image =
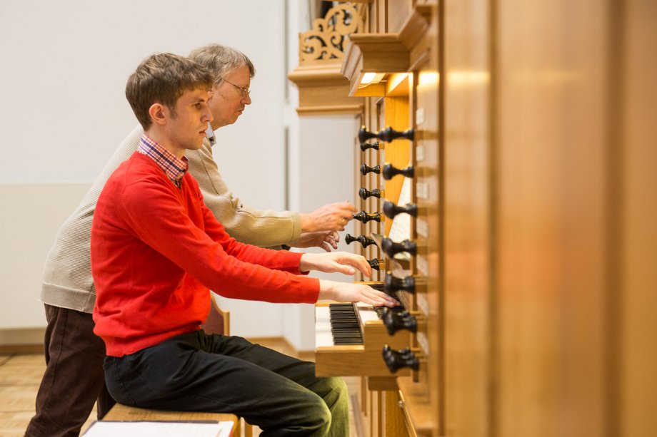
[[498, 1], [499, 436], [606, 435], [607, 1]]

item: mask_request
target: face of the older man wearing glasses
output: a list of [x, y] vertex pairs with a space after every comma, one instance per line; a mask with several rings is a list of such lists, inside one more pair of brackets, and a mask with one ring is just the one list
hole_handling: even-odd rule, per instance
[[[210, 110], [214, 116], [213, 129], [235, 123], [246, 105], [251, 105], [251, 97], [239, 88], [249, 89], [251, 73], [248, 66], [237, 68], [229, 73], [210, 93]], [[237, 88], [239, 87], [239, 88]]]

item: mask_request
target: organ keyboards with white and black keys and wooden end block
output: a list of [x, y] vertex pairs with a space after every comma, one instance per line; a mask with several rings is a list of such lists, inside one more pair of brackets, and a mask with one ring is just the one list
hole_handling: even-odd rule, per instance
[[[383, 284], [369, 283], [382, 289]], [[403, 311], [403, 304], [394, 309]], [[315, 305], [315, 363], [317, 376], [390, 376], [381, 359], [383, 346], [407, 347], [408, 331], [388, 334], [381, 308], [366, 304], [318, 302]], [[400, 371], [400, 374], [404, 374]], [[408, 372], [408, 371], [406, 371]]]

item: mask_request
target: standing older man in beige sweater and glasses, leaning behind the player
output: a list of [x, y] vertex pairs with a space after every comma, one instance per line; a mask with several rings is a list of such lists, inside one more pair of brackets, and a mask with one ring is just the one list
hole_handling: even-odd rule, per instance
[[[234, 123], [251, 104], [249, 85], [255, 69], [249, 58], [232, 48], [210, 45], [191, 58], [216, 77], [209, 98], [214, 130]], [[116, 149], [109, 163], [69, 219], [50, 250], [44, 271], [41, 301], [46, 309], [46, 372], [36, 398], [36, 415], [26, 436], [77, 436], [96, 399], [98, 418], [114, 404], [106, 391], [102, 363], [105, 347], [93, 333], [91, 312], [96, 289], [91, 277], [89, 240], [96, 200], [109, 175], [137, 149], [141, 127]], [[336, 248], [336, 231], [344, 230], [355, 208], [348, 202], [314, 212], [262, 211], [241, 204], [221, 179], [212, 158], [212, 144], [190, 151], [189, 171], [199, 182], [204, 201], [232, 237], [263, 247], [319, 246]]]

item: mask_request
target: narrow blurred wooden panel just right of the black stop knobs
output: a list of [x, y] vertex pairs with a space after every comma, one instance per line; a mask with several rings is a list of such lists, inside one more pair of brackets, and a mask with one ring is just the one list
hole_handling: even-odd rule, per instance
[[444, 13], [443, 432], [486, 436], [491, 361], [490, 9], [483, 0], [446, 1]]

